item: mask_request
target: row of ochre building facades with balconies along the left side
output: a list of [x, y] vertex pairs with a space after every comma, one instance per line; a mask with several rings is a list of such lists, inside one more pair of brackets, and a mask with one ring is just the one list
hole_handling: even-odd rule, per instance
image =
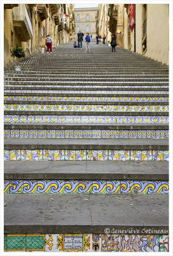
[[14, 47], [29, 57], [41, 51], [48, 34], [56, 47], [73, 40], [74, 29], [73, 4], [4, 4], [4, 68], [16, 63]]

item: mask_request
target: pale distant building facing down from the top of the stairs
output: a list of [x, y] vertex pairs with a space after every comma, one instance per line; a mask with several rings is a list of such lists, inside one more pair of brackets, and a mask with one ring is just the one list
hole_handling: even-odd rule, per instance
[[84, 34], [89, 33], [93, 38], [96, 36], [97, 8], [75, 8], [75, 38], [81, 30]]

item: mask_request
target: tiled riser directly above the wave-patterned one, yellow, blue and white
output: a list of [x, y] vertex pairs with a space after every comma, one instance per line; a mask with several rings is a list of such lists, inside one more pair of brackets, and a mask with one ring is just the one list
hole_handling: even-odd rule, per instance
[[169, 161], [169, 150], [4, 150], [4, 160]]

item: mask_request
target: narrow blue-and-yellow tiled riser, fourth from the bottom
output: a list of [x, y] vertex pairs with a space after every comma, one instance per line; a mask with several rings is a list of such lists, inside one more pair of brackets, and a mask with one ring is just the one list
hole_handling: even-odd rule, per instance
[[4, 130], [4, 138], [112, 138], [165, 139], [168, 130]]

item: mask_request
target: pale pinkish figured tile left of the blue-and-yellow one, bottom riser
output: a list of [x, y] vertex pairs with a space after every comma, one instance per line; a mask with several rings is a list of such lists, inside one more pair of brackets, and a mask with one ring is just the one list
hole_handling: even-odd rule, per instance
[[140, 252], [140, 236], [121, 235], [120, 252]]

